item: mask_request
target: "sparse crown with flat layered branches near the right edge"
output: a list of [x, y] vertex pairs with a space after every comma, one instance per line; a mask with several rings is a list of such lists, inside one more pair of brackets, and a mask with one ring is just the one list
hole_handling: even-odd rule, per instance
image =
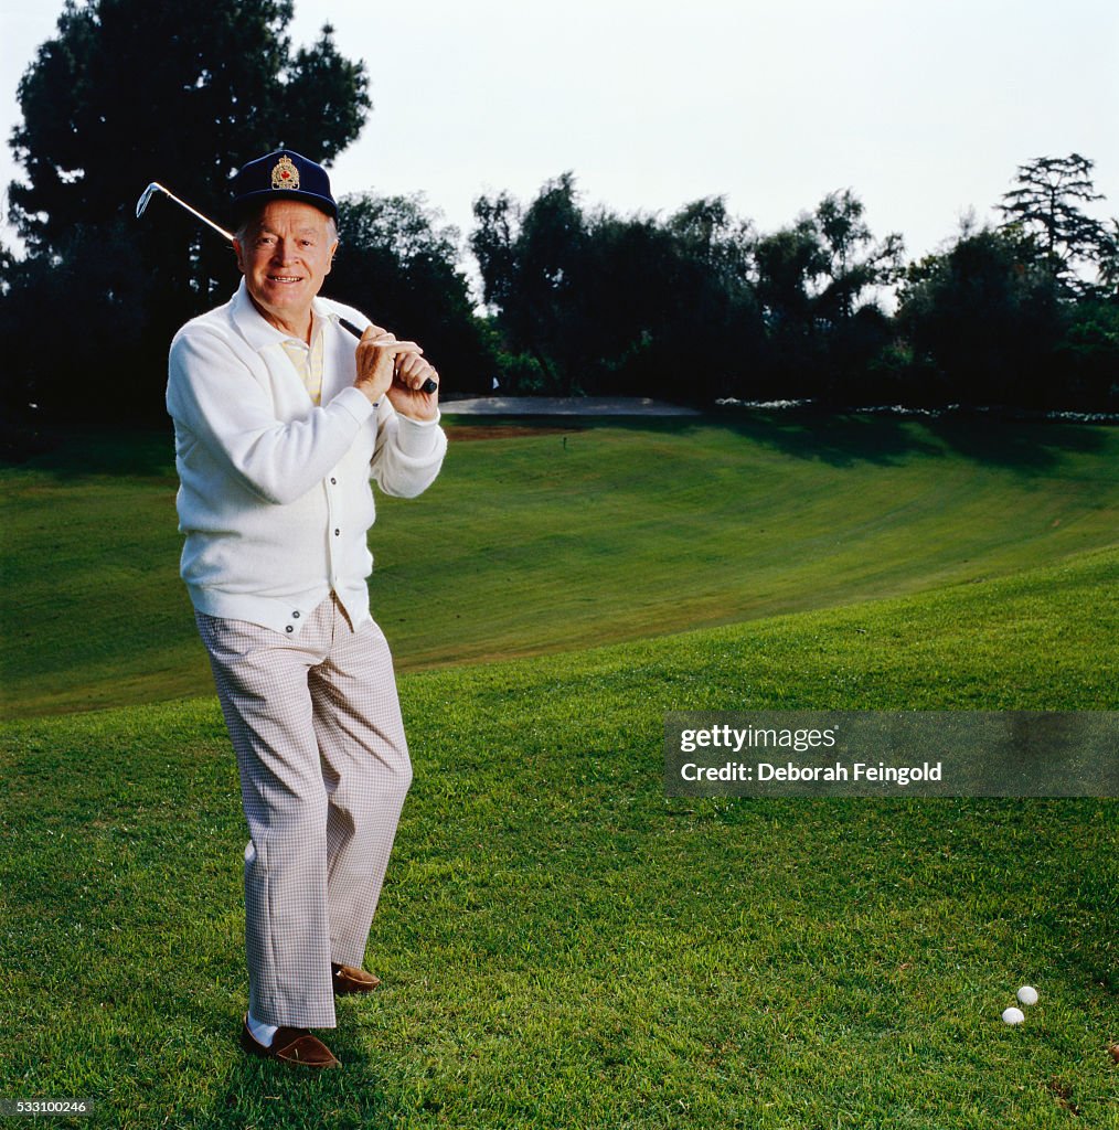
[[1074, 296], [1093, 289], [1083, 277], [1084, 268], [1094, 268], [1096, 281], [1104, 286], [1109, 270], [1113, 272], [1114, 232], [1082, 207], [1103, 199], [1092, 182], [1094, 164], [1077, 153], [1038, 157], [1018, 166], [1018, 186], [1004, 193], [1005, 203], [999, 205], [1006, 217], [1003, 226], [1034, 236], [1053, 278]]

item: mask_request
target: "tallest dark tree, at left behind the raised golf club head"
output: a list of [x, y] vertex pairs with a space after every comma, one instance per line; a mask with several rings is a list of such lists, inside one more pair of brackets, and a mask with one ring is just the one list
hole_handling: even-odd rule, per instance
[[[9, 142], [26, 176], [9, 189], [10, 218], [34, 262], [19, 281], [67, 295], [73, 328], [60, 336], [60, 307], [28, 303], [40, 324], [25, 332], [57, 348], [26, 376], [55, 417], [162, 418], [171, 333], [235, 284], [228, 246], [179, 209], [136, 223], [146, 184], [228, 223], [231, 179], [246, 160], [289, 146], [329, 162], [361, 131], [363, 64], [338, 54], [329, 26], [293, 54], [292, 16], [292, 0], [214, 0], [205, 11], [66, 0], [19, 84], [23, 121]], [[109, 259], [132, 271], [111, 294], [89, 285]], [[93, 328], [114, 347], [76, 365], [75, 341]], [[112, 380], [113, 397], [97, 377]]]

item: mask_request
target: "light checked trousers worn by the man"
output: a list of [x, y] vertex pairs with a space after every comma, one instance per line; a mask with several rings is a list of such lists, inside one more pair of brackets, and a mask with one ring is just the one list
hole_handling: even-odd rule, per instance
[[335, 1026], [330, 963], [362, 965], [411, 763], [392, 658], [328, 597], [298, 636], [196, 612], [237, 757], [249, 1007]]

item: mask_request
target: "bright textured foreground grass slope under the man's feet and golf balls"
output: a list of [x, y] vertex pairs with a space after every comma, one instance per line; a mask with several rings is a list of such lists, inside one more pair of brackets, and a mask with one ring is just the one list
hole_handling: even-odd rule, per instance
[[1117, 570], [405, 676], [385, 983], [341, 1002], [321, 1078], [234, 1042], [216, 704], [12, 723], [2, 1090], [114, 1128], [1114, 1127], [1113, 801], [667, 800], [661, 734], [671, 709], [1114, 709]]

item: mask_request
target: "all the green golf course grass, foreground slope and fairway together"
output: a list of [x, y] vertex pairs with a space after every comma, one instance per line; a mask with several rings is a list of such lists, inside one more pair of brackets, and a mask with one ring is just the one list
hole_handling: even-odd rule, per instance
[[384, 985], [340, 1002], [324, 1077], [236, 1045], [245, 829], [167, 441], [0, 475], [27, 715], [0, 729], [0, 1097], [114, 1130], [1119, 1127], [1114, 800], [661, 781], [669, 710], [1116, 710], [1119, 433], [452, 427], [372, 537], [416, 780]]

